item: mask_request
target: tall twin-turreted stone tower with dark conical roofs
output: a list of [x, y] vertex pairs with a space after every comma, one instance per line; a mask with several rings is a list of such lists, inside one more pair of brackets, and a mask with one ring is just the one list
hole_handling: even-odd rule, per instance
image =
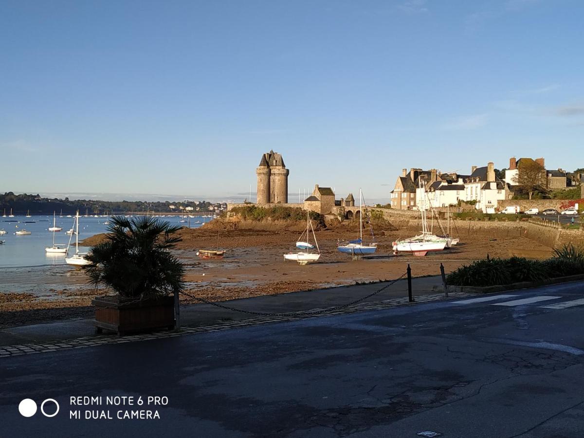
[[280, 154], [274, 151], [263, 154], [256, 169], [258, 204], [287, 204], [289, 173]]

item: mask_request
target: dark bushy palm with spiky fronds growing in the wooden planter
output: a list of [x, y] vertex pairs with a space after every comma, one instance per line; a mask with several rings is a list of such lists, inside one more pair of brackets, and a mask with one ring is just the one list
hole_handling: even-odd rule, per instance
[[152, 216], [113, 217], [107, 241], [86, 256], [91, 261], [89, 283], [140, 300], [179, 293], [185, 288], [185, 270], [169, 252], [182, 240], [172, 236], [179, 229]]

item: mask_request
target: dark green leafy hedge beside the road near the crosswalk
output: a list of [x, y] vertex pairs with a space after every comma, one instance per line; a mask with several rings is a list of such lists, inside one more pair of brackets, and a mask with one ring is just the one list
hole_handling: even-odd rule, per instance
[[552, 258], [547, 260], [527, 260], [522, 257], [475, 260], [451, 272], [447, 281], [456, 286], [481, 287], [575, 274], [584, 274], [584, 249], [568, 244], [554, 250]]

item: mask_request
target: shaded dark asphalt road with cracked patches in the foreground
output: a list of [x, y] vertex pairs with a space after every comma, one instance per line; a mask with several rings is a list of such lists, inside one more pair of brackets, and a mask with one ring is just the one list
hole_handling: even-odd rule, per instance
[[[0, 435], [581, 436], [583, 292], [575, 282], [11, 357], [0, 361]], [[160, 419], [116, 419], [144, 405], [94, 405], [77, 409], [113, 419], [77, 420], [75, 395], [169, 402], [147, 408]], [[24, 418], [23, 398], [61, 410]]]

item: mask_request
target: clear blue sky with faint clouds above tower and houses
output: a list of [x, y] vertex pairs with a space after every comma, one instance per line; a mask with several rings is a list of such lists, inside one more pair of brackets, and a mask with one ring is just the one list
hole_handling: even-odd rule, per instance
[[0, 191], [389, 198], [402, 168], [584, 167], [579, 0], [4, 1]]

